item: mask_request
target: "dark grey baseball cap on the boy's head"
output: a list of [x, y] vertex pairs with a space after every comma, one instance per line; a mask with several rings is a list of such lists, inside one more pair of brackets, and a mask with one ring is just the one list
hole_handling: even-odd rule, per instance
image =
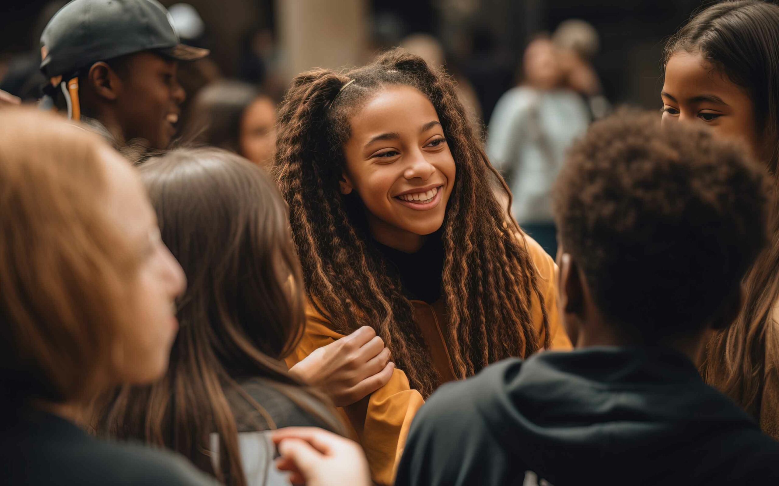
[[182, 44], [167, 9], [156, 0], [73, 0], [41, 35], [41, 71], [69, 75], [98, 61], [156, 51], [178, 61], [209, 54]]

